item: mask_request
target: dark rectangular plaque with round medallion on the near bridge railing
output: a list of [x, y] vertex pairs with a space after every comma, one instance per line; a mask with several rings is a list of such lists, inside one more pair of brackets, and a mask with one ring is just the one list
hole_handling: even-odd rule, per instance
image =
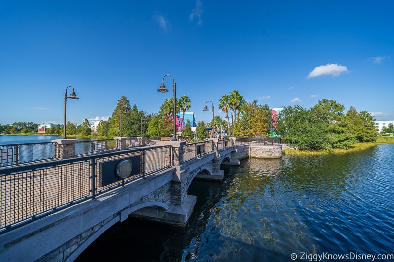
[[141, 156], [115, 159], [101, 163], [101, 186], [107, 186], [141, 173]]

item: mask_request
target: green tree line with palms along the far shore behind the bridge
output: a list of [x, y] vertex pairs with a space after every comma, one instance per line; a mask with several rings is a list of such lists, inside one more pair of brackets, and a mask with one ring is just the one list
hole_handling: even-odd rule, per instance
[[[122, 96], [109, 119], [101, 120], [96, 128], [99, 137], [113, 138], [122, 136], [147, 136], [157, 138], [171, 136], [173, 133], [173, 98], [165, 99], [158, 113], [139, 110], [134, 104], [131, 108], [127, 97]], [[366, 111], [357, 112], [355, 107], [345, 113], [345, 106], [335, 100], [323, 99], [307, 109], [299, 105], [284, 106], [277, 116], [266, 104], [257, 100], [247, 102], [238, 90], [219, 98], [219, 109], [225, 118], [215, 116], [215, 126], [225, 129], [227, 135], [235, 137], [258, 137], [279, 135], [283, 142], [300, 149], [321, 150], [329, 148], [349, 148], [358, 142], [373, 142], [377, 139], [375, 118]], [[176, 111], [185, 112], [191, 108], [188, 96], [183, 95], [176, 101]], [[231, 117], [229, 117], [229, 113]], [[231, 118], [231, 124], [230, 124]], [[182, 136], [196, 136], [205, 139], [208, 123], [198, 122], [196, 132], [191, 131], [187, 121], [182, 123]], [[89, 136], [92, 133], [89, 121], [82, 125], [67, 123], [67, 134]], [[13, 123], [0, 125], [0, 133], [15, 134], [37, 132], [38, 124]], [[382, 129], [382, 133], [392, 133], [393, 125]], [[48, 134], [63, 134], [63, 127], [52, 126]]]

